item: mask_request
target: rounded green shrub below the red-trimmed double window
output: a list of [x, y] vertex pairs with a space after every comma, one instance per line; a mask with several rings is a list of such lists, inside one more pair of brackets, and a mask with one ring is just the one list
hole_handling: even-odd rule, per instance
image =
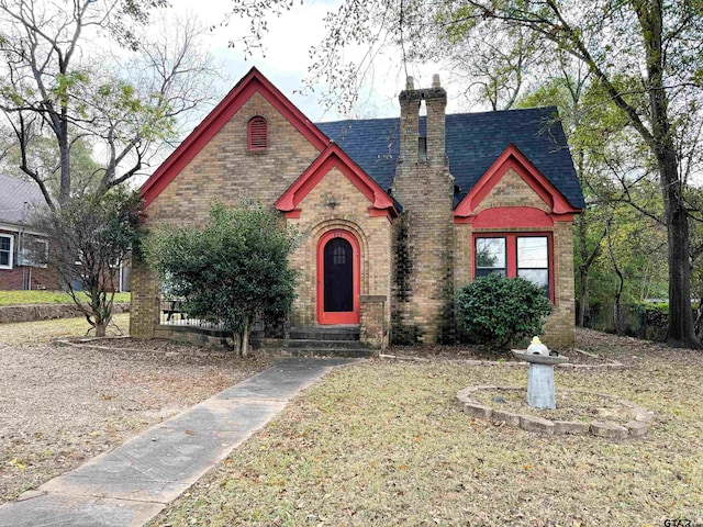
[[477, 278], [456, 299], [459, 327], [469, 341], [505, 348], [518, 339], [542, 335], [551, 313], [545, 291], [522, 278], [499, 274]]

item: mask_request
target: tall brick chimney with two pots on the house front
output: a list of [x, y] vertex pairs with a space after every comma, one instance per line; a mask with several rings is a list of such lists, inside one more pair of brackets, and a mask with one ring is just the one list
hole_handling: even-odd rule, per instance
[[[422, 101], [426, 137], [420, 136]], [[438, 76], [426, 89], [415, 89], [409, 77], [399, 102], [400, 156], [391, 189], [403, 213], [394, 224], [392, 338], [448, 341], [454, 327], [454, 178], [445, 152], [447, 93]]]

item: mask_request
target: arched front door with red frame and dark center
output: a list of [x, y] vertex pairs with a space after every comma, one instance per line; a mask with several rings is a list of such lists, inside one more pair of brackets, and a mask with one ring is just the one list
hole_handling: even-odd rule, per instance
[[325, 233], [317, 244], [317, 322], [359, 323], [359, 243], [348, 231]]

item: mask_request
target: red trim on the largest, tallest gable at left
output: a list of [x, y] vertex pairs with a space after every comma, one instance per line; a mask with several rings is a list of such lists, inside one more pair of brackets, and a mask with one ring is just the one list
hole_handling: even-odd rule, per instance
[[142, 186], [144, 206], [148, 206], [161, 193], [186, 165], [257, 92], [276, 108], [295, 130], [303, 134], [315, 148], [322, 150], [330, 143], [327, 136], [311, 123], [278, 88], [264, 77], [258, 69], [252, 68]]

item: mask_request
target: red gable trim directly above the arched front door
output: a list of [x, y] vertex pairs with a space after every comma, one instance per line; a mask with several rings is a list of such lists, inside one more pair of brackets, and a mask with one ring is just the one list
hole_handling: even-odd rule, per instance
[[[294, 211], [300, 202], [322, 181], [330, 170], [337, 168], [372, 203], [375, 211], [389, 211], [393, 216], [398, 210], [393, 200], [371, 179], [336, 143], [317, 156], [310, 167], [291, 184], [276, 202], [276, 209], [282, 212]], [[383, 215], [369, 212], [371, 215]]]

